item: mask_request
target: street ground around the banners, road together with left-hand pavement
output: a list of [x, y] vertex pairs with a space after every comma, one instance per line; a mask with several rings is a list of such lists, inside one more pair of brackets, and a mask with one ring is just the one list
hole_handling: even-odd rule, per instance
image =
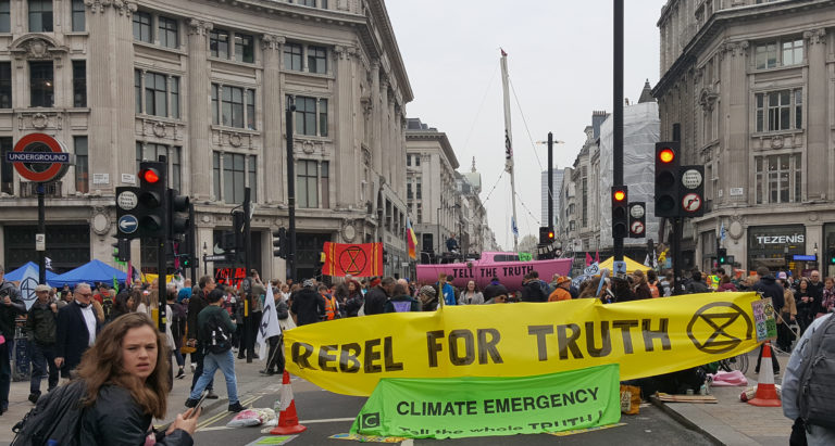
[[[281, 377], [264, 377], [258, 373], [258, 370], [263, 367], [263, 364], [260, 361], [246, 364], [246, 361], [238, 360], [235, 366], [238, 375], [238, 394], [240, 395], [241, 403], [248, 407], [273, 407], [273, 404], [279, 397]], [[177, 412], [184, 410], [183, 403], [187, 397], [190, 378], [191, 374], [188, 373], [185, 379], [175, 380], [174, 390], [169, 400], [169, 418], [158, 425], [170, 422]], [[225, 398], [225, 388], [223, 378], [221, 373], [217, 373], [215, 375], [215, 390], [221, 398], [216, 400], [208, 399], [205, 402], [205, 410], [200, 417], [198, 432], [195, 435], [195, 444], [219, 446], [247, 445], [262, 436], [270, 436], [269, 429], [266, 428], [226, 428], [226, 423], [233, 418], [233, 415], [226, 411], [228, 402]], [[331, 439], [329, 437], [336, 434], [348, 433], [353, 418], [365, 402], [364, 397], [337, 395], [296, 378], [292, 379], [292, 390], [299, 420], [308, 430], [291, 438], [287, 444], [294, 446], [350, 444], [345, 441]], [[0, 443], [11, 442], [13, 438], [12, 425], [20, 421], [33, 407], [26, 400], [27, 394], [28, 382], [12, 383], [9, 411], [0, 417]], [[621, 422], [624, 424], [615, 428], [561, 437], [546, 434], [514, 435], [444, 441], [415, 439], [406, 441], [401, 444], [432, 445], [443, 442], [444, 444], [454, 445], [545, 445], [552, 444], [556, 441], [570, 445], [608, 445], [615, 442], [644, 445], [697, 446], [711, 444], [703, 435], [684, 428], [652, 405], [644, 405], [640, 408], [640, 415], [624, 416]], [[266, 433], [262, 433], [262, 430], [265, 430]]]

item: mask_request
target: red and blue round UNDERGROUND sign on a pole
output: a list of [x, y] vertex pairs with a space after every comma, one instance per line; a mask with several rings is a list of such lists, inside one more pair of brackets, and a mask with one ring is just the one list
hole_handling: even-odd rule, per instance
[[46, 133], [29, 133], [21, 138], [14, 150], [7, 153], [21, 177], [35, 182], [59, 179], [71, 163], [70, 153], [57, 139]]

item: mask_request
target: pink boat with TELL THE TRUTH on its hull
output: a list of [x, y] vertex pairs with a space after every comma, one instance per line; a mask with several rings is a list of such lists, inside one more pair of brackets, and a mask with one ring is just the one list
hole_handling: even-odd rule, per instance
[[484, 289], [496, 277], [509, 291], [516, 291], [522, 289], [522, 278], [526, 273], [536, 270], [539, 279], [550, 282], [553, 275], [568, 276], [571, 263], [570, 258], [519, 262], [519, 256], [513, 253], [484, 252], [478, 260], [418, 265], [416, 280], [418, 283], [435, 283], [438, 275], [445, 272], [454, 278], [452, 284], [457, 288], [464, 288], [466, 282], [474, 280], [479, 289]]

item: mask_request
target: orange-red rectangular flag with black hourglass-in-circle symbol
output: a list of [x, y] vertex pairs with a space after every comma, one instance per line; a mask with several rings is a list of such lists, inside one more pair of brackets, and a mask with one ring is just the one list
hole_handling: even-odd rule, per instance
[[373, 277], [383, 273], [383, 243], [325, 242], [325, 276]]

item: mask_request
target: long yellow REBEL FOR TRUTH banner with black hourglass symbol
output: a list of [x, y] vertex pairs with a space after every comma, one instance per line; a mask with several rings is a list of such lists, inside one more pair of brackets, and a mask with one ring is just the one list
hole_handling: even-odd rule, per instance
[[651, 377], [752, 349], [758, 300], [706, 293], [337, 319], [284, 332], [287, 370], [346, 395], [371, 395], [381, 378], [527, 377], [614, 362], [621, 380]]

